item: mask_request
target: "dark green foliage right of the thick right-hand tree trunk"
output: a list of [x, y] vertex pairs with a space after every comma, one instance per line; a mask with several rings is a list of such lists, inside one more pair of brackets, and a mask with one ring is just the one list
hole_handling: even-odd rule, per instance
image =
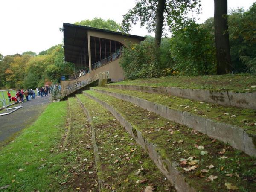
[[232, 10], [229, 16], [230, 47], [233, 68], [256, 73], [256, 3], [247, 12]]

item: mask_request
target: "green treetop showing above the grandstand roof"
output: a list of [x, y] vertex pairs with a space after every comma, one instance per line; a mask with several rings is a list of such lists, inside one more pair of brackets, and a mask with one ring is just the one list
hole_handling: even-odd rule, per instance
[[82, 20], [80, 22], [75, 22], [75, 24], [121, 32], [121, 26], [112, 19], [104, 20], [102, 18], [95, 17], [93, 20]]

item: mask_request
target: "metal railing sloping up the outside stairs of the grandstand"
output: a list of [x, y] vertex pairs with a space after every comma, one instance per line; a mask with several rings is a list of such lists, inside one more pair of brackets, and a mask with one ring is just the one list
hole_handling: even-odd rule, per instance
[[65, 97], [71, 93], [74, 93], [76, 90], [81, 89], [82, 87], [85, 87], [86, 85], [98, 80], [98, 79], [108, 79], [109, 78], [109, 72], [103, 72], [103, 73], [99, 73], [96, 76], [93, 76], [85, 81], [81, 81], [81, 83], [78, 83], [76, 85], [73, 85], [72, 87], [70, 87], [67, 90], [64, 90], [62, 93], [62, 97]]

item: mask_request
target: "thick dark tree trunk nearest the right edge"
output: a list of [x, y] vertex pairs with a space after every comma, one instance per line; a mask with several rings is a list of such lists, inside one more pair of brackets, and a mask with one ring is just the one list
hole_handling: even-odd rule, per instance
[[231, 71], [230, 43], [227, 24], [227, 0], [214, 0], [214, 29], [217, 74], [227, 74]]

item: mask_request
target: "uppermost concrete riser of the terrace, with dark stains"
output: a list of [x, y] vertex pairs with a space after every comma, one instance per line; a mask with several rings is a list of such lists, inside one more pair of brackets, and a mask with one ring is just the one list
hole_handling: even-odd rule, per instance
[[179, 96], [196, 101], [216, 103], [226, 106], [256, 109], [256, 92], [233, 92], [227, 90], [204, 90], [180, 87], [151, 87], [129, 84], [107, 84], [109, 88], [137, 90], [147, 93], [160, 93]]

